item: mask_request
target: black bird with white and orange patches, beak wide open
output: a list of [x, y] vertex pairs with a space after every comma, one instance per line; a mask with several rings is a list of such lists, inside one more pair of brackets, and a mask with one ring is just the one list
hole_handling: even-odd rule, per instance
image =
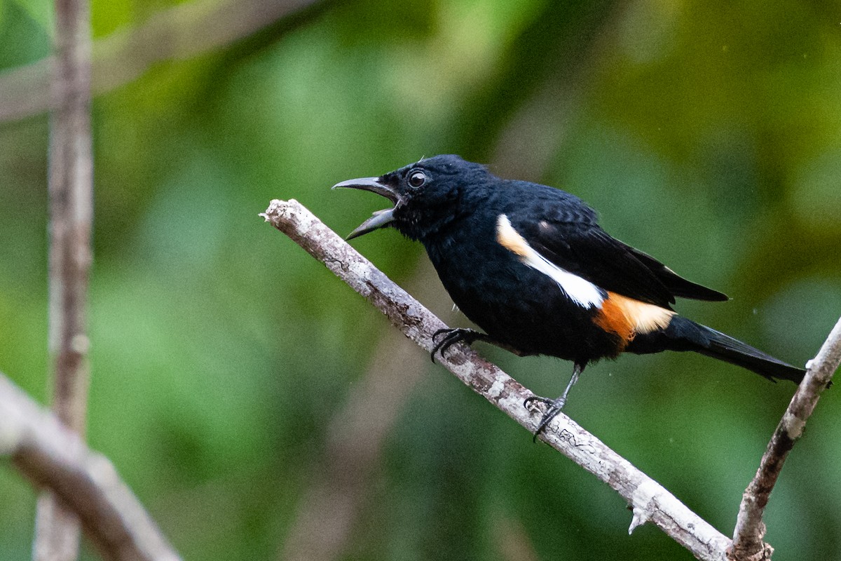
[[611, 237], [574, 195], [501, 179], [459, 156], [422, 159], [334, 188], [388, 198], [394, 208], [374, 213], [347, 239], [391, 226], [421, 241], [453, 302], [484, 329], [437, 332], [433, 360], [458, 341], [486, 341], [521, 356], [574, 363], [560, 397], [530, 398], [547, 404], [535, 437], [566, 403], [587, 364], [621, 352], [695, 351], [771, 380], [799, 384], [803, 378], [801, 368], [677, 315], [675, 296], [727, 296]]

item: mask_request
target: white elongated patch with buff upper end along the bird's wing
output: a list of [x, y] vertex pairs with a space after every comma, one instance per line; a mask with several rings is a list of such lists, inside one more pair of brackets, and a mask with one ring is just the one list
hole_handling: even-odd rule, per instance
[[508, 251], [520, 256], [520, 261], [528, 267], [543, 273], [563, 290], [575, 304], [582, 308], [601, 307], [604, 297], [600, 289], [590, 281], [579, 277], [574, 273], [558, 267], [553, 262], [535, 251], [528, 242], [514, 230], [510, 220], [505, 214], [500, 214], [496, 219], [496, 241]]

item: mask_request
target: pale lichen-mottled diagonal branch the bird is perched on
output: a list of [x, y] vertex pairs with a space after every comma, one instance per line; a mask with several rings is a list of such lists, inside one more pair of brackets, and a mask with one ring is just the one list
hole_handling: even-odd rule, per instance
[[[295, 200], [272, 200], [261, 214], [337, 277], [362, 294], [403, 334], [431, 351], [432, 334], [445, 327], [441, 320], [399, 288]], [[462, 382], [496, 405], [521, 426], [534, 431], [541, 407], [527, 410], [523, 401], [532, 395], [508, 374], [464, 345], [453, 346], [442, 364]], [[726, 558], [730, 540], [677, 500], [656, 481], [633, 467], [604, 443], [584, 431], [566, 415], [547, 426], [542, 440], [616, 490], [633, 509], [629, 532], [651, 521], [696, 558]]]

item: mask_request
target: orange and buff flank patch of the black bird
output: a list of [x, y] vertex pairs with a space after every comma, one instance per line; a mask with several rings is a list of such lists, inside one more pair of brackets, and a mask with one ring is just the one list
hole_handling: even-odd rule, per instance
[[640, 302], [608, 291], [601, 310], [593, 318], [595, 325], [616, 333], [623, 341], [630, 342], [637, 333], [650, 333], [669, 325], [675, 312], [658, 305]]

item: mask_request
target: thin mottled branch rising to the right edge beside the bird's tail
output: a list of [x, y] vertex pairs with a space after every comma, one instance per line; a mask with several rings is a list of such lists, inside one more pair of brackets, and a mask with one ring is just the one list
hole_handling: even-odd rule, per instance
[[841, 364], [841, 319], [829, 333], [817, 356], [809, 361], [806, 377], [780, 419], [754, 480], [744, 491], [733, 532], [733, 549], [728, 553], [733, 561], [764, 561], [771, 558], [774, 549], [762, 541], [765, 535], [765, 524], [762, 521], [765, 505], [768, 504], [785, 458], [803, 434], [806, 421], [812, 415], [822, 391], [832, 382], [838, 364]]

